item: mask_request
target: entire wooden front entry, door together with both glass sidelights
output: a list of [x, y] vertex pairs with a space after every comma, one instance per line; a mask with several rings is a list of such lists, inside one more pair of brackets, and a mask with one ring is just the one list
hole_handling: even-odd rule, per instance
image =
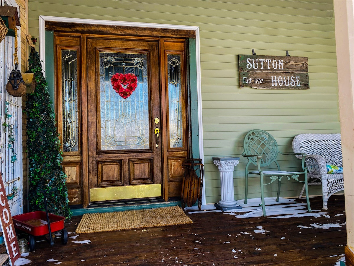
[[54, 44], [70, 205], [178, 198], [190, 146], [186, 40], [55, 32]]

